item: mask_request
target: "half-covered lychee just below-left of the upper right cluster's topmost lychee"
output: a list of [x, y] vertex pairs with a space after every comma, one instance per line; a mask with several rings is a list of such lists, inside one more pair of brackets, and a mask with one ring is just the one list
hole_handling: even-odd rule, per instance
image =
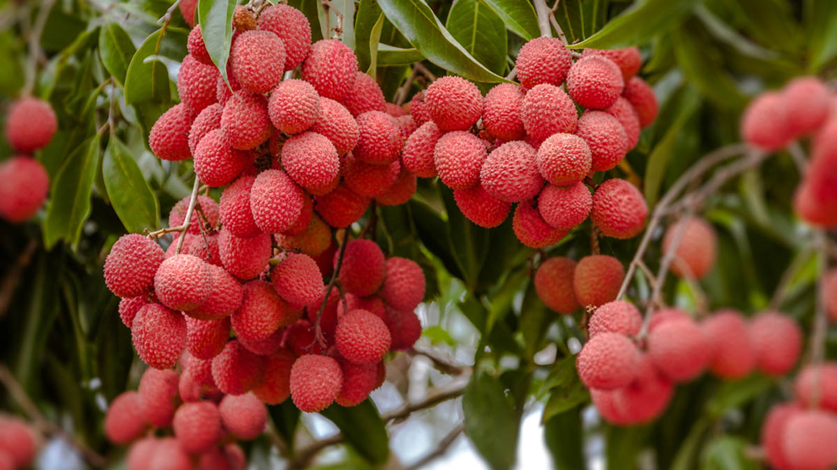
[[498, 84], [485, 95], [482, 123], [498, 139], [521, 140], [526, 136], [521, 106], [526, 94], [516, 84]]

